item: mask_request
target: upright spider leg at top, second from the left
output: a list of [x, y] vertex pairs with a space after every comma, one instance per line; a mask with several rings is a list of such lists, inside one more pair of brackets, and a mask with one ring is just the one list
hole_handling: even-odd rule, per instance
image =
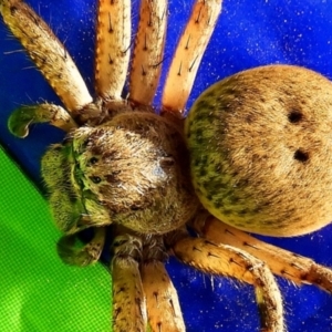
[[121, 101], [131, 51], [131, 0], [98, 1], [95, 85], [103, 100]]

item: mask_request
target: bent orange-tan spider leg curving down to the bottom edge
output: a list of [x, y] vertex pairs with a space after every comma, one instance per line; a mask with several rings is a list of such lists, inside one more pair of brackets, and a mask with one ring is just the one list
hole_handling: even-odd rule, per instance
[[179, 232], [170, 236], [167, 245], [177, 259], [197, 270], [252, 284], [260, 311], [261, 331], [284, 331], [281, 294], [272, 272], [263, 261], [232, 246], [216, 245]]

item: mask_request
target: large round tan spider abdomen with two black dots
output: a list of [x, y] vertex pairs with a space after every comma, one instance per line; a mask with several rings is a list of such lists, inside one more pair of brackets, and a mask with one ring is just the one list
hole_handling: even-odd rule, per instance
[[204, 206], [240, 229], [295, 236], [332, 219], [332, 85], [297, 66], [263, 66], [209, 87], [186, 121]]

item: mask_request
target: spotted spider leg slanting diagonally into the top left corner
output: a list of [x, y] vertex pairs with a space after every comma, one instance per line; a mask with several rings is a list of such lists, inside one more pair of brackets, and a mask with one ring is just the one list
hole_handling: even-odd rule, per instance
[[70, 54], [28, 4], [19, 0], [1, 0], [0, 13], [70, 112], [74, 113], [92, 103]]

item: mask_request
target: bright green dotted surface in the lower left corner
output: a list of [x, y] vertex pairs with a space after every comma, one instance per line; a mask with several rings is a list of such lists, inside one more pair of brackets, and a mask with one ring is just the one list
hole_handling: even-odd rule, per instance
[[101, 264], [64, 266], [46, 201], [0, 148], [0, 331], [110, 331]]

